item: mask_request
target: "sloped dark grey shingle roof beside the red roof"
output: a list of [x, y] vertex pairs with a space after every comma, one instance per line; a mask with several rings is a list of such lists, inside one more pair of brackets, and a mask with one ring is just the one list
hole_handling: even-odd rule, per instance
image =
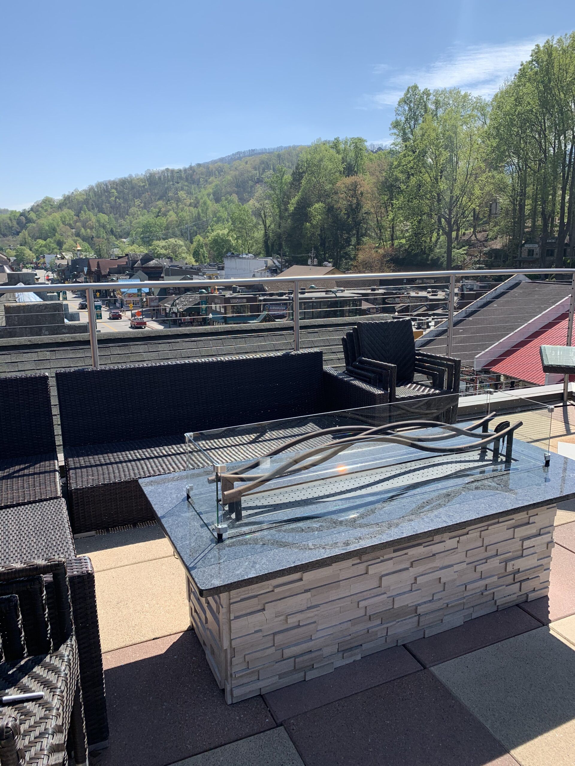
[[[473, 367], [478, 354], [559, 303], [569, 293], [570, 285], [560, 282], [511, 284], [504, 293], [494, 296], [462, 319], [455, 315], [452, 355], [461, 359], [464, 365]], [[420, 344], [419, 348], [445, 353], [446, 335], [447, 330], [444, 330], [428, 343]]]

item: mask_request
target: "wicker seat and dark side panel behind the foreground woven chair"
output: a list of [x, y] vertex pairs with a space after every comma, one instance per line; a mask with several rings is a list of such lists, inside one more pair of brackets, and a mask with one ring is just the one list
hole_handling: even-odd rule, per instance
[[[108, 720], [94, 568], [87, 556], [76, 555], [64, 499], [28, 503], [0, 512], [0, 565], [54, 556], [66, 559], [88, 747], [100, 750], [107, 745]], [[53, 620], [57, 610], [50, 577], [45, 578], [45, 591]]]

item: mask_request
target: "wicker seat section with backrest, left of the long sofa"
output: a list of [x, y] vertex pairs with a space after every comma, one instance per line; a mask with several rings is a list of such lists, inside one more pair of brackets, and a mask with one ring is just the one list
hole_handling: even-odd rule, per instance
[[0, 509], [61, 497], [48, 375], [0, 378]]

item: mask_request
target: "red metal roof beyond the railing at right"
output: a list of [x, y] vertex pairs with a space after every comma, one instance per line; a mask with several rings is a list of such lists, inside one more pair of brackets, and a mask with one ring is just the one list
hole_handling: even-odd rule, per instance
[[[510, 375], [522, 381], [544, 385], [545, 373], [541, 368], [540, 345], [565, 345], [567, 343], [567, 314], [562, 314], [518, 341], [511, 349], [490, 362], [488, 368], [501, 375]], [[573, 375], [571, 376], [573, 378]]]

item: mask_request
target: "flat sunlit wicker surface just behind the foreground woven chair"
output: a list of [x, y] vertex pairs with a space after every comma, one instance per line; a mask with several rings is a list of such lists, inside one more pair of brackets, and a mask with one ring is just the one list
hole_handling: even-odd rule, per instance
[[75, 555], [64, 499], [14, 506], [0, 512], [0, 565]]

